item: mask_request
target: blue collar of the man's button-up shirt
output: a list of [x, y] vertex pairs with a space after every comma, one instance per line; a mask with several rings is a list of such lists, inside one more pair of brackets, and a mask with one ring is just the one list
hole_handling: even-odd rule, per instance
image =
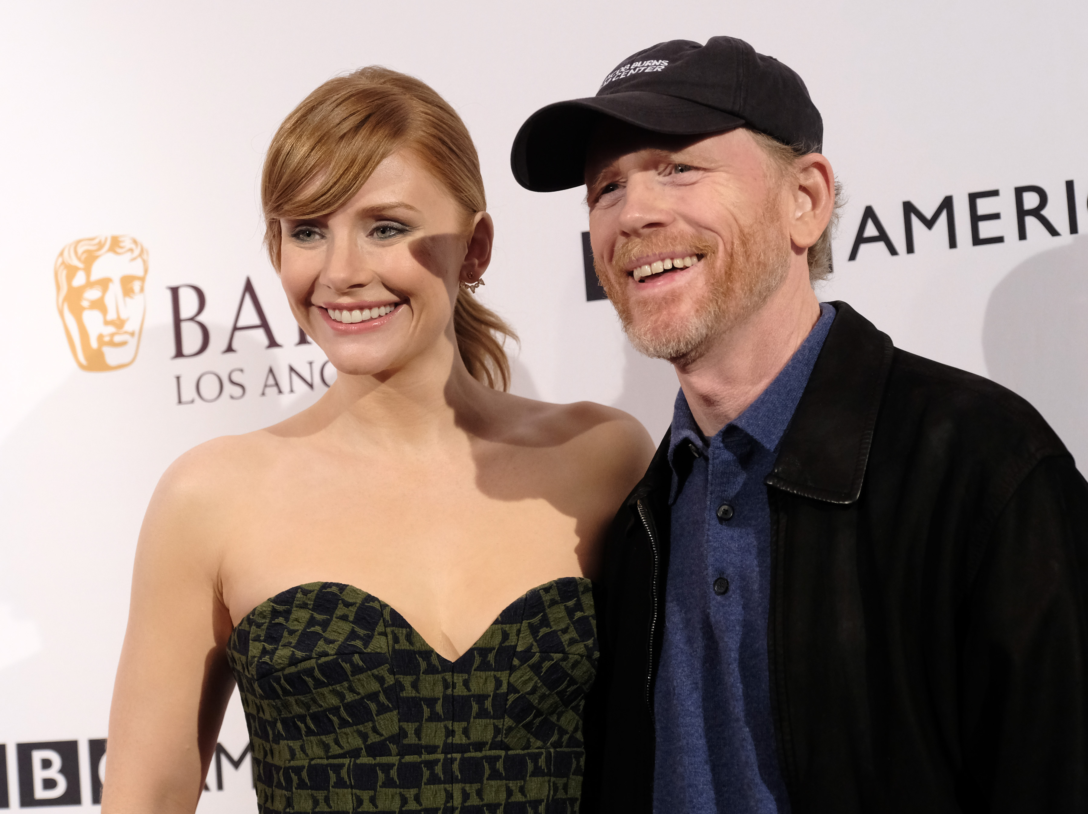
[[[786, 428], [789, 427], [790, 419], [801, 400], [801, 394], [805, 390], [808, 377], [816, 365], [816, 357], [819, 356], [824, 340], [834, 320], [834, 308], [827, 304], [820, 304], [820, 316], [808, 332], [808, 336], [801, 343], [801, 347], [794, 351], [793, 356], [786, 363], [775, 380], [767, 385], [756, 399], [749, 405], [740, 416], [726, 424], [713, 439], [705, 440], [703, 433], [695, 423], [695, 418], [688, 406], [683, 390], [677, 393], [677, 400], [672, 409], [672, 436], [669, 441], [669, 465], [678, 476], [672, 479], [672, 490], [669, 495], [669, 503], [676, 499], [679, 489], [679, 480], [687, 472], [687, 464], [691, 457], [707, 455], [714, 444], [720, 444], [722, 436], [730, 431], [730, 428], [740, 430], [749, 435], [756, 443], [769, 452], [774, 452]], [[735, 430], [733, 431], [735, 432]], [[688, 460], [677, 459], [677, 451], [680, 449]]]

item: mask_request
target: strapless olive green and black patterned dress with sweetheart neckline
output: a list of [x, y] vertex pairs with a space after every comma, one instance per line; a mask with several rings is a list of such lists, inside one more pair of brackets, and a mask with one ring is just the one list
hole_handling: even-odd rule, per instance
[[338, 582], [261, 603], [227, 656], [260, 812], [577, 812], [597, 668], [591, 583], [534, 588], [456, 662]]

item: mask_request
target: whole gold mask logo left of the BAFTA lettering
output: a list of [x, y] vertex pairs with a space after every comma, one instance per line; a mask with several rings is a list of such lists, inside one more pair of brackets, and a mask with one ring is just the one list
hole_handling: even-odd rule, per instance
[[128, 235], [84, 237], [57, 256], [57, 310], [84, 370], [118, 370], [136, 359], [147, 269], [147, 249]]

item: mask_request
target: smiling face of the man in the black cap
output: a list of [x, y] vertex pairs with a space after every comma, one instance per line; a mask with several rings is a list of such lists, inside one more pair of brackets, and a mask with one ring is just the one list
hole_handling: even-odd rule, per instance
[[597, 274], [641, 353], [696, 360], [784, 280], [790, 200], [747, 131], [666, 136], [603, 120], [585, 177]]

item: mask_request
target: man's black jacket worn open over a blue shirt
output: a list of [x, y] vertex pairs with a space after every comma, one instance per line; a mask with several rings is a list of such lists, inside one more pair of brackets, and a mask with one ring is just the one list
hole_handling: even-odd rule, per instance
[[[834, 306], [766, 481], [793, 814], [1088, 812], [1088, 484], [1022, 398]], [[668, 442], [608, 541], [586, 810], [652, 809]]]

